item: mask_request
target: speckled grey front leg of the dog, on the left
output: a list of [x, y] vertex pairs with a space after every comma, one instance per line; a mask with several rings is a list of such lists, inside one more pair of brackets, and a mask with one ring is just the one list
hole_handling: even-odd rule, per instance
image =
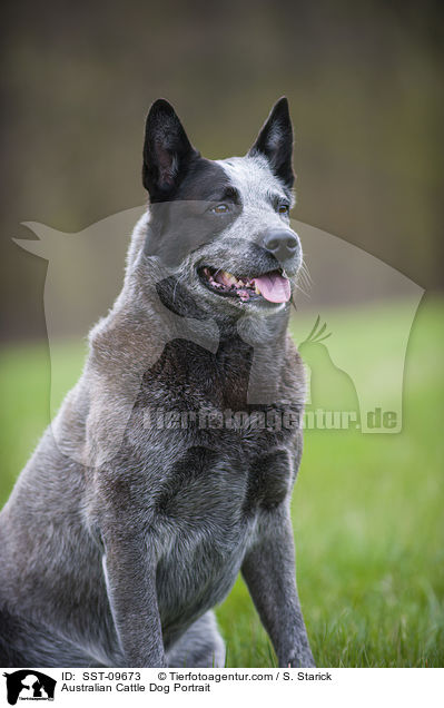
[[109, 603], [128, 667], [167, 666], [156, 592], [156, 564], [147, 539], [114, 528], [102, 532]]

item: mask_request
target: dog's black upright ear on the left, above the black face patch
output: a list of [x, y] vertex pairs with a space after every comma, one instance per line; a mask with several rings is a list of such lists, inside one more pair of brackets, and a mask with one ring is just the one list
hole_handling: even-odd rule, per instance
[[168, 200], [198, 155], [172, 106], [159, 98], [149, 109], [145, 127], [142, 181], [150, 200]]

